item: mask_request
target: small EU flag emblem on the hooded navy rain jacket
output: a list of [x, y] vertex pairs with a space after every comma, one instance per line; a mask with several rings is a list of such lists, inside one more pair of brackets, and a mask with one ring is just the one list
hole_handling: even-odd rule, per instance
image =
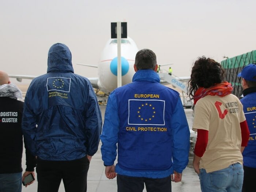
[[71, 82], [71, 78], [64, 78], [64, 77], [47, 78], [47, 90], [69, 92], [70, 82]]

